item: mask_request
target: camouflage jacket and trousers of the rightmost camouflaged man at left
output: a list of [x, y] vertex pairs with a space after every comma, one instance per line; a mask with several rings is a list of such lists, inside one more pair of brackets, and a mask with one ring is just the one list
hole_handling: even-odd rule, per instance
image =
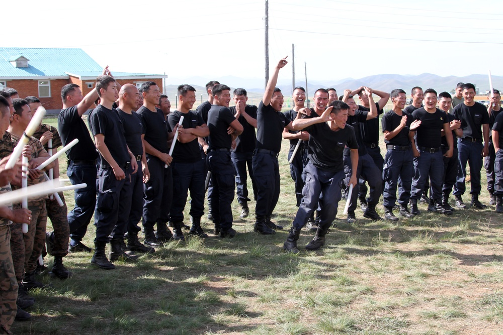
[[[40, 130], [33, 134], [33, 137], [39, 139], [44, 135], [45, 132], [50, 131], [52, 133], [52, 148], [54, 155], [58, 147], [62, 146], [61, 138], [56, 128], [42, 124]], [[49, 150], [49, 145], [46, 143], [44, 145], [46, 151]], [[56, 199], [45, 200], [45, 206], [47, 208], [47, 216], [52, 222], [52, 228], [54, 229], [54, 245], [50, 254], [54, 257], [64, 257], [68, 254], [68, 241], [70, 239], [70, 227], [68, 226], [68, 210], [66, 208], [66, 202], [64, 201], [63, 193], [58, 193], [59, 197], [63, 201], [63, 207], [60, 207]]]

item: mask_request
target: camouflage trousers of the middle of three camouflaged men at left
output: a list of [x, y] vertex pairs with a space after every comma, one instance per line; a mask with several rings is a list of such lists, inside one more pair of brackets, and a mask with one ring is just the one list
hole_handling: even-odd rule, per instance
[[[19, 208], [19, 205], [16, 206]], [[35, 271], [38, 257], [45, 246], [45, 228], [47, 226], [45, 200], [29, 201], [28, 209], [32, 211], [32, 221], [27, 234], [23, 234], [22, 224], [14, 223], [11, 225], [12, 261], [19, 284], [21, 284], [24, 272]]]

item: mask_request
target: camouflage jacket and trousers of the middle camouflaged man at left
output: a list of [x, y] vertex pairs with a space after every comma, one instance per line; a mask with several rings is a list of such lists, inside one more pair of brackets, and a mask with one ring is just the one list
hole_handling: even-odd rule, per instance
[[[19, 138], [11, 134], [11, 139], [13, 147], [16, 147]], [[28, 145], [33, 148], [32, 159], [47, 153], [42, 146], [42, 143], [34, 137], [30, 139]], [[40, 176], [37, 180], [28, 179], [28, 185], [38, 184], [43, 181], [45, 181], [44, 176]], [[14, 269], [16, 271], [18, 284], [21, 284], [24, 272], [30, 273], [35, 271], [37, 267], [37, 259], [45, 246], [45, 227], [47, 225], [45, 200], [47, 198], [48, 196], [44, 195], [31, 198], [28, 201], [28, 209], [32, 211], [32, 220], [28, 227], [27, 234], [23, 234], [22, 224], [16, 222], [12, 225], [11, 252], [13, 255]], [[15, 206], [18, 206], [17, 208], [21, 207], [20, 204]]]

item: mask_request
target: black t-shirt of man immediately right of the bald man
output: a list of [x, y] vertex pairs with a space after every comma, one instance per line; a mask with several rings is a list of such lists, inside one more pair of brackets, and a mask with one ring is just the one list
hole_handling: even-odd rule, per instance
[[167, 154], [170, 148], [167, 147], [167, 124], [162, 111], [151, 111], [145, 106], [138, 108], [136, 113], [141, 118], [145, 141], [154, 149]]

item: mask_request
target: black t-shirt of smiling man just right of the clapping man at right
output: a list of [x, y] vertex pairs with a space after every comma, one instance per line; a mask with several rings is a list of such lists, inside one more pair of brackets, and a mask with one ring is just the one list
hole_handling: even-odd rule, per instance
[[442, 129], [448, 124], [447, 115], [440, 109], [428, 113], [425, 107], [417, 108], [412, 113], [414, 120], [421, 120], [416, 130], [416, 145], [418, 147], [439, 148], [442, 144]]

